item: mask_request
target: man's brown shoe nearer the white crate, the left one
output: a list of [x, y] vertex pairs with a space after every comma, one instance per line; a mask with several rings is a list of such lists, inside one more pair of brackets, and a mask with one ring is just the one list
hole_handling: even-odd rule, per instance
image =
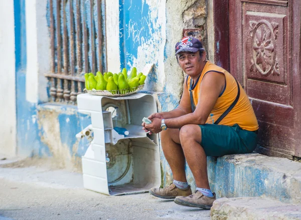
[[176, 196], [180, 195], [191, 195], [192, 191], [190, 185], [186, 189], [182, 190], [180, 188], [177, 188], [177, 186], [174, 183], [171, 183], [165, 188], [151, 188], [149, 189], [149, 193], [159, 198], [171, 199], [176, 198]]

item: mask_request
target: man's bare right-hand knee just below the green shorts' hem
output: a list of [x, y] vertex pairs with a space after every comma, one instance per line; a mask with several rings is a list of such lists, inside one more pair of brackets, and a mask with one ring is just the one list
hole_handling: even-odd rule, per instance
[[195, 140], [201, 142], [202, 133], [201, 128], [197, 124], [186, 124], [181, 127], [180, 130], [180, 140], [181, 142]]

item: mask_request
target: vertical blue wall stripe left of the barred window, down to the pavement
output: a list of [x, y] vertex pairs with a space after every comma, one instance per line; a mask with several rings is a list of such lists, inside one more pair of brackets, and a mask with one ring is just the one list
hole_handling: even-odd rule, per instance
[[17, 152], [39, 153], [45, 146], [37, 136], [36, 104], [26, 101], [26, 19], [25, 0], [14, 0], [16, 43]]

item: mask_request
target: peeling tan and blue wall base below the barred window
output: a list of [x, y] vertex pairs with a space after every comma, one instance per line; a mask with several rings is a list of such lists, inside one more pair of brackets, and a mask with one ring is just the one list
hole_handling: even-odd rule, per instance
[[48, 146], [60, 167], [81, 171], [81, 156], [89, 146], [75, 134], [91, 123], [90, 116], [77, 112], [74, 106], [43, 104], [38, 107], [41, 142]]

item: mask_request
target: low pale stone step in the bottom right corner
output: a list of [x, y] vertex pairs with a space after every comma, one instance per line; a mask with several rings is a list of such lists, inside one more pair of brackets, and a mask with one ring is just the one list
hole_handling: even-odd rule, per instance
[[297, 220], [301, 219], [301, 205], [259, 197], [219, 198], [210, 215], [211, 220]]

